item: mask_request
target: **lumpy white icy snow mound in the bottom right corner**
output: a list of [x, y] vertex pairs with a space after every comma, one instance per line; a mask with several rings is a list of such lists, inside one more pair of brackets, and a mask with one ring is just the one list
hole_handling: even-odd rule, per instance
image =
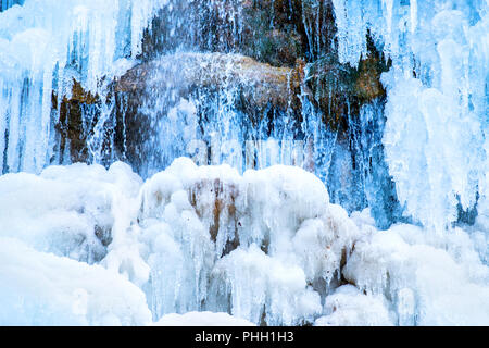
[[367, 295], [385, 296], [399, 324], [485, 325], [489, 269], [462, 229], [444, 236], [396, 225], [355, 244], [344, 276]]

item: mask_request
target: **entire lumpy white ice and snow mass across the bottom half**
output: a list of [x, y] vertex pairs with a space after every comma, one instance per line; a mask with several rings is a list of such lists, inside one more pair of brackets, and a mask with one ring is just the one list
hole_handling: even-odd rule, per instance
[[473, 234], [378, 231], [298, 167], [51, 166], [0, 198], [1, 324], [489, 323]]

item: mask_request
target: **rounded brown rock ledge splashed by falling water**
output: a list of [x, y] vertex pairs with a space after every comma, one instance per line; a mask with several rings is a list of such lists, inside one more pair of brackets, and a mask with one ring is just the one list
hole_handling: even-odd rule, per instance
[[[177, 53], [131, 69], [116, 82], [115, 91], [143, 96], [168, 88], [186, 92], [238, 88], [255, 108], [272, 103], [286, 110], [291, 72], [290, 67], [275, 67], [238, 54]], [[293, 86], [298, 85], [293, 79]]]

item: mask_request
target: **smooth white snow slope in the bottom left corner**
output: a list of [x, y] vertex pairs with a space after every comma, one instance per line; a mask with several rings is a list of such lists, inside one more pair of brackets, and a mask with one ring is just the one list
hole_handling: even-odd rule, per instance
[[145, 294], [123, 276], [0, 237], [0, 325], [147, 325]]

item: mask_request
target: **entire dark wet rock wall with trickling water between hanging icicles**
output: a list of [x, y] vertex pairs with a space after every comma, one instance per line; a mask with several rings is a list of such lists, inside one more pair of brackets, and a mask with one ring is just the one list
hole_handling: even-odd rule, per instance
[[[334, 201], [361, 210], [367, 206], [362, 183], [378, 174], [373, 172], [373, 161], [381, 169], [385, 163], [381, 145], [368, 150], [372, 159], [362, 154], [363, 138], [381, 134], [384, 120], [373, 120], [365, 128], [359, 115], [365, 105], [385, 103], [380, 75], [391, 62], [367, 35], [367, 55], [358, 66], [341, 64], [336, 35], [330, 0], [171, 1], [143, 36], [140, 63], [112, 82], [106, 100], [86, 94], [75, 82], [72, 96], [62, 99], [59, 110], [53, 102], [60, 114], [60, 152], [73, 162], [92, 160], [87, 141], [93, 137], [101, 105], [106, 104], [112, 111], [98, 125], [98, 136], [103, 138], [98, 161], [108, 165], [126, 161], [142, 176], [151, 175], [149, 162], [164, 169], [173, 160], [172, 153], [158, 153], [158, 141], [166, 141], [168, 152], [186, 153], [172, 144], [165, 128], [165, 120], [181, 100], [193, 101], [199, 137], [206, 142], [211, 141], [206, 133], [214, 132], [209, 125], [220, 122], [223, 110], [238, 113], [243, 137], [252, 139], [271, 137], [279, 132], [277, 124], [288, 123], [294, 139], [308, 140], [304, 116], [316, 113], [324, 124], [322, 132], [336, 134], [329, 174], [322, 178], [337, 187], [331, 191]], [[186, 121], [178, 120], [183, 115], [176, 117], [185, 127]], [[161, 140], [165, 132], [167, 139]], [[308, 141], [313, 153], [314, 144]], [[359, 166], [365, 161], [369, 167]], [[321, 165], [325, 164], [308, 167], [314, 171]], [[340, 172], [338, 182], [335, 175]], [[380, 172], [386, 176], [380, 182], [391, 192], [389, 207], [380, 210], [388, 211], [397, 199], [387, 171]]]

